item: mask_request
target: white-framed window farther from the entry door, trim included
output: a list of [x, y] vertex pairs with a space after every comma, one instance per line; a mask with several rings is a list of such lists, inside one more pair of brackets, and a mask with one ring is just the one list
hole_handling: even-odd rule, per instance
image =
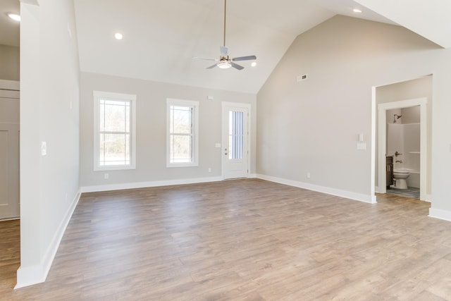
[[94, 91], [94, 171], [135, 169], [136, 95]]

